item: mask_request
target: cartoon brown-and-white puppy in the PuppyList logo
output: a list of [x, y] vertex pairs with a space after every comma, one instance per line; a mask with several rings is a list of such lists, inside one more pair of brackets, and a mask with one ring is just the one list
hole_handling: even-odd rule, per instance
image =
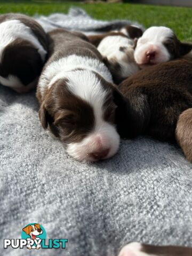
[[[30, 236], [30, 238], [27, 239], [33, 239], [33, 240], [39, 240], [38, 235], [43, 234], [43, 230], [41, 229], [40, 225], [35, 223], [34, 225], [28, 225], [27, 227], [22, 229], [27, 235]], [[41, 247], [41, 244], [37, 244], [37, 246], [32, 246], [30, 244], [27, 245], [27, 248], [30, 250], [33, 249], [39, 249]]]

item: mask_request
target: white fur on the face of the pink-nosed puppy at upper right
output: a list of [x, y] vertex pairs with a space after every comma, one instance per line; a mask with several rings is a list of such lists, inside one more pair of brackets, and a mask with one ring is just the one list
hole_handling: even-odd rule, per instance
[[[146, 65], [146, 53], [149, 50], [156, 52], [156, 57], [150, 64], [157, 64], [169, 61], [170, 53], [167, 51], [163, 42], [166, 38], [173, 36], [173, 31], [166, 27], [150, 27], [138, 39], [137, 47], [135, 48], [134, 58], [138, 65]], [[143, 66], [145, 67], [145, 66]]]

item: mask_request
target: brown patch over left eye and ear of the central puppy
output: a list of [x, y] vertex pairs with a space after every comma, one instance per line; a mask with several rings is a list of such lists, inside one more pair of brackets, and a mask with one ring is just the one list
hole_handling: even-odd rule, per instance
[[[47, 91], [39, 109], [44, 129], [49, 129], [64, 143], [81, 141], [94, 125], [93, 109], [67, 89], [67, 81], [57, 81]], [[62, 97], [61, 97], [62, 95]]]

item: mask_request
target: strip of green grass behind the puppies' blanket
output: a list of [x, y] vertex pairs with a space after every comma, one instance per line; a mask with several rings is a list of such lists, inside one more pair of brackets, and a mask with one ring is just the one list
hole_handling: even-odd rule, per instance
[[28, 15], [53, 12], [67, 13], [71, 6], [82, 7], [93, 18], [102, 20], [130, 19], [145, 27], [157, 25], [172, 28], [182, 41], [192, 42], [192, 8], [141, 4], [83, 4], [76, 2], [31, 0], [0, 1], [0, 13], [20, 12]]

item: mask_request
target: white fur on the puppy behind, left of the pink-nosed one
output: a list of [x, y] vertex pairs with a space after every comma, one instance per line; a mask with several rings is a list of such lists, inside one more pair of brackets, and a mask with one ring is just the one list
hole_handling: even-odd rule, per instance
[[[120, 51], [120, 47], [125, 47], [125, 51]], [[108, 61], [115, 59], [121, 66], [122, 78], [129, 77], [137, 71], [139, 66], [137, 63], [130, 61], [129, 55], [133, 56], [133, 40], [123, 36], [107, 36], [102, 39], [98, 45], [98, 51], [103, 57], [107, 57]]]

